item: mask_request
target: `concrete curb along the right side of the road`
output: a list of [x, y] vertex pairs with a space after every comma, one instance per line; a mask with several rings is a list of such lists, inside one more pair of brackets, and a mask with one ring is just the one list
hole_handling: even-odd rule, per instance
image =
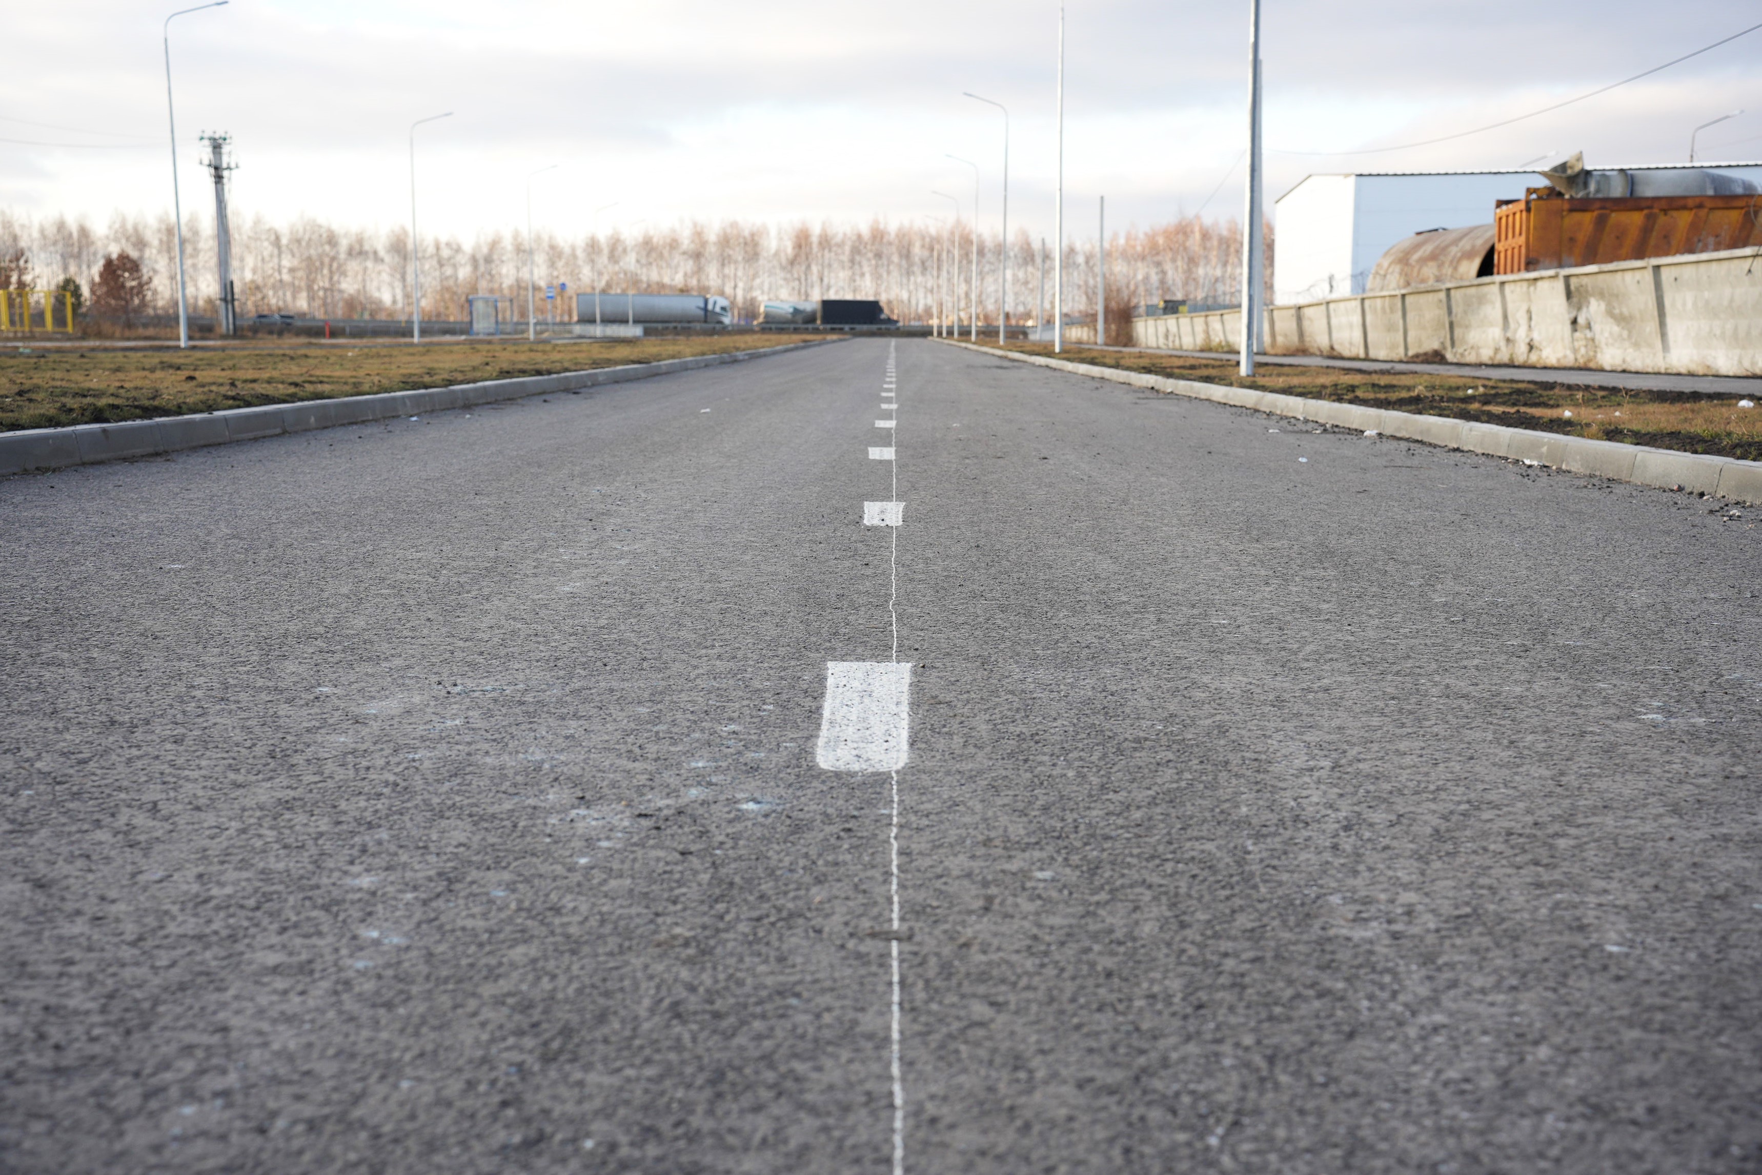
[[1152, 391], [1170, 391], [1196, 400], [1230, 403], [1240, 409], [1272, 412], [1274, 416], [1295, 416], [1318, 425], [1336, 425], [1339, 428], [1376, 430], [1385, 437], [1404, 440], [1424, 440], [1445, 449], [1464, 449], [1468, 453], [1485, 453], [1521, 462], [1535, 462], [1572, 474], [1589, 474], [1593, 477], [1612, 477], [1632, 481], [1642, 486], [1669, 490], [1681, 486], [1688, 491], [1713, 493], [1721, 499], [1762, 506], [1762, 462], [1739, 462], [1730, 456], [1707, 456], [1704, 453], [1676, 453], [1672, 449], [1651, 449], [1639, 444], [1619, 444], [1616, 440], [1588, 440], [1586, 437], [1563, 437], [1559, 433], [1535, 432], [1529, 428], [1507, 428], [1505, 425], [1478, 425], [1471, 421], [1452, 421], [1443, 416], [1420, 416], [1417, 412], [1396, 412], [1392, 409], [1366, 409], [1357, 403], [1334, 403], [1332, 400], [1306, 400], [1302, 396], [1283, 396], [1274, 391], [1253, 391], [1249, 388], [1230, 388], [1226, 384], [1202, 384], [1191, 379], [1168, 379], [1166, 375], [1145, 375], [1144, 372], [1122, 372], [1094, 363], [1071, 363], [1070, 359], [1048, 359], [1038, 354], [1020, 354], [981, 347], [951, 338], [941, 342], [988, 356], [1004, 356], [1036, 366], [1050, 366], [1073, 375], [1091, 375], [1115, 384], [1131, 384]]

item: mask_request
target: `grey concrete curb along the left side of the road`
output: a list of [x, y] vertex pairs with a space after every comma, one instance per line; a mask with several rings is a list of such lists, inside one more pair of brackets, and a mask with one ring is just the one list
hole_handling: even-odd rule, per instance
[[372, 396], [344, 396], [342, 400], [301, 400], [298, 403], [264, 403], [252, 409], [226, 409], [201, 416], [166, 416], [152, 421], [123, 421], [120, 425], [74, 425], [72, 428], [26, 428], [0, 433], [0, 477], [35, 469], [65, 469], [69, 465], [95, 465], [130, 456], [153, 456], [180, 449], [199, 449], [234, 440], [257, 440], [282, 433], [333, 428], [337, 425], [363, 425], [396, 416], [423, 416], [469, 409], [499, 400], [523, 400], [562, 391], [580, 391], [601, 384], [622, 384], [652, 375], [691, 372], [700, 366], [744, 363], [763, 356], [825, 347], [844, 338], [814, 338], [805, 344], [784, 344], [759, 351], [729, 351], [726, 354], [663, 359], [659, 363], [631, 363], [604, 366], [594, 372], [562, 372], [559, 375], [529, 375], [525, 379], [493, 379], [481, 384], [453, 384], [451, 388], [423, 388], [418, 391], [384, 391]]

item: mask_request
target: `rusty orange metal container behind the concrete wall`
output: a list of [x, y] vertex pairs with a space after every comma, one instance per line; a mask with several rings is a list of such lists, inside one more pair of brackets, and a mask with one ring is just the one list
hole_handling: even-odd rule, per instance
[[1762, 245], [1762, 196], [1568, 199], [1529, 188], [1492, 213], [1494, 273], [1600, 266]]

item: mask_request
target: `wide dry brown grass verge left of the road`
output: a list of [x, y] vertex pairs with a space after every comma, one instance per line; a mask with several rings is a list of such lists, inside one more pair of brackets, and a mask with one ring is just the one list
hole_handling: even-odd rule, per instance
[[305, 342], [215, 347], [19, 347], [0, 352], [0, 430], [132, 421], [257, 403], [365, 396], [485, 379], [751, 351], [791, 335], [684, 335], [581, 344]]

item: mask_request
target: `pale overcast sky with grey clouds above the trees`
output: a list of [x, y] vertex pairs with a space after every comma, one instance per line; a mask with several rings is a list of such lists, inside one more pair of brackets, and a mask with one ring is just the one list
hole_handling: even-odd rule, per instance
[[[189, 0], [187, 0], [189, 2]], [[35, 217], [171, 206], [160, 21], [176, 4], [12, 5], [0, 206]], [[1071, 234], [1203, 206], [1240, 215], [1247, 14], [1117, 0], [1066, 11]], [[1265, 0], [1269, 203], [1309, 173], [1762, 157], [1762, 32], [1612, 93], [1438, 146], [1366, 153], [1521, 115], [1762, 21], [1753, 0]], [[1050, 233], [1057, 5], [233, 0], [180, 16], [173, 74], [187, 210], [211, 210], [201, 130], [234, 136], [234, 215], [409, 222], [409, 123], [425, 231], [626, 229], [700, 217], [996, 227], [1011, 111], [1010, 218]], [[78, 144], [78, 146], [72, 146]], [[1216, 196], [1212, 196], [1216, 192]], [[1207, 197], [1210, 201], [1207, 203]], [[594, 218], [594, 210], [613, 204]]]

